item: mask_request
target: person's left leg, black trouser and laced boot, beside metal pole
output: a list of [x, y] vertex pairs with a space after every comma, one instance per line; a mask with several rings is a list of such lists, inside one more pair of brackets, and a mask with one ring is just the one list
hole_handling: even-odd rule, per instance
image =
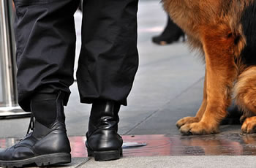
[[15, 0], [18, 99], [32, 112], [32, 132], [0, 152], [0, 167], [71, 161], [64, 104], [73, 82], [77, 7], [75, 0]]

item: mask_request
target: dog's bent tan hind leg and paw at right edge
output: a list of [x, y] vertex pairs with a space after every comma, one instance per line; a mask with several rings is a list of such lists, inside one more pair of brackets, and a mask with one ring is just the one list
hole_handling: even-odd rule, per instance
[[244, 133], [256, 132], [256, 66], [241, 73], [234, 87], [236, 104], [244, 112], [245, 119], [241, 129]]

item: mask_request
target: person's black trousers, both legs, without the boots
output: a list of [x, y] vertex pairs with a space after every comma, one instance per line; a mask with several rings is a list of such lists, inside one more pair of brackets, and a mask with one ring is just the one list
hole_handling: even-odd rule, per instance
[[[37, 93], [69, 98], [75, 61], [78, 0], [14, 0], [17, 17], [18, 99], [30, 111]], [[138, 69], [138, 0], [84, 0], [78, 62], [80, 102], [109, 99], [127, 105]]]

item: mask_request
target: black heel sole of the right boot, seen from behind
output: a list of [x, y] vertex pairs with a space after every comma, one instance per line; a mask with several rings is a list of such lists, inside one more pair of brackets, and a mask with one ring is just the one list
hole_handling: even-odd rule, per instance
[[87, 148], [88, 156], [94, 157], [95, 161], [111, 161], [123, 156], [123, 149], [109, 151], [93, 151]]

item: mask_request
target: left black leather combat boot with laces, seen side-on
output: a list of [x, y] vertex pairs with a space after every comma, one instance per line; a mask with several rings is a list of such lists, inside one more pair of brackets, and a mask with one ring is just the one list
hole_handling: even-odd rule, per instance
[[0, 167], [26, 167], [29, 164], [40, 167], [71, 162], [62, 93], [34, 96], [31, 111], [26, 137], [0, 152]]

